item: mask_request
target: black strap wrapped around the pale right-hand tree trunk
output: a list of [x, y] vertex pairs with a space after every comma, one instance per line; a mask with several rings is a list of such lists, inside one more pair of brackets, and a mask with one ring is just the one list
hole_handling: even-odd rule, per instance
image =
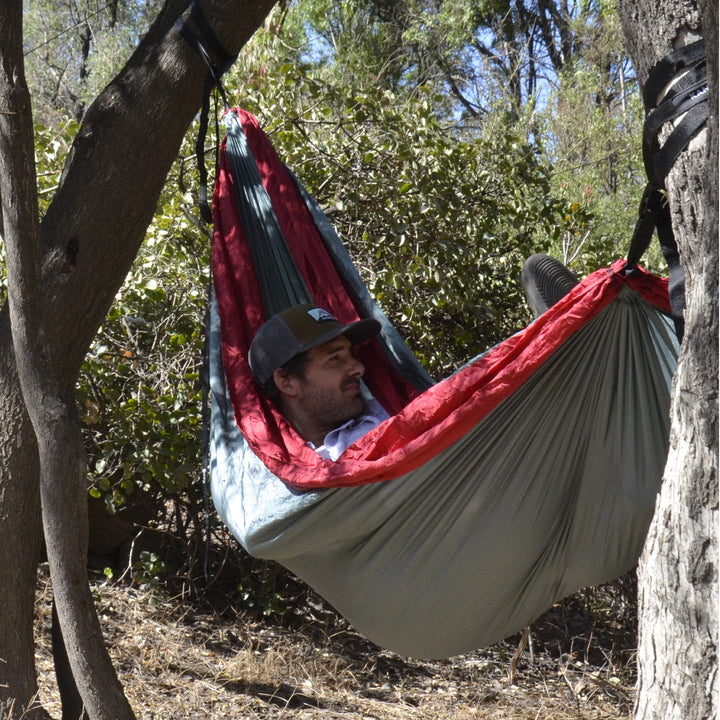
[[[658, 101], [663, 89], [680, 74], [683, 74], [682, 77]], [[653, 231], [657, 230], [660, 249], [668, 264], [670, 307], [680, 340], [684, 332], [685, 274], [672, 230], [665, 178], [680, 153], [705, 124], [708, 117], [707, 96], [704, 40], [678, 48], [660, 60], [650, 71], [643, 91], [647, 112], [643, 128], [643, 161], [649, 182], [630, 241], [626, 272], [632, 273], [637, 267], [650, 245]], [[666, 122], [681, 115], [684, 117], [660, 147], [660, 129]]]

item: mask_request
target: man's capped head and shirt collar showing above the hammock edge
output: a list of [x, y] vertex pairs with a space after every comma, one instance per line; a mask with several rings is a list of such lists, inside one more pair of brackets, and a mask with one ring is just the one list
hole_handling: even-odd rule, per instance
[[342, 325], [327, 310], [301, 304], [273, 315], [253, 338], [255, 380], [323, 458], [337, 460], [389, 417], [361, 383], [365, 367], [352, 351], [379, 332], [376, 320]]

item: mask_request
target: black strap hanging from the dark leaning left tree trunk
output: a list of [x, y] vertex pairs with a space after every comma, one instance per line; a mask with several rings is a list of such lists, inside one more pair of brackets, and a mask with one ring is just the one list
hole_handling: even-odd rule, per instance
[[[235, 62], [236, 55], [232, 55], [223, 47], [213, 32], [210, 24], [202, 13], [197, 0], [190, 3], [190, 17], [193, 20], [196, 30], [192, 30], [183, 20], [182, 15], [177, 19], [175, 27], [183, 36], [185, 41], [204, 60], [208, 66], [209, 74], [205, 81], [202, 107], [200, 110], [200, 128], [195, 141], [195, 152], [198, 160], [198, 172], [200, 174], [200, 185], [198, 189], [198, 204], [202, 219], [212, 222], [212, 212], [207, 197], [207, 168], [205, 166], [205, 138], [207, 136], [208, 118], [210, 115], [210, 95], [213, 89], [217, 89], [222, 97], [225, 109], [229, 109], [225, 89], [220, 78], [228, 68]], [[213, 60], [217, 58], [217, 62]]]

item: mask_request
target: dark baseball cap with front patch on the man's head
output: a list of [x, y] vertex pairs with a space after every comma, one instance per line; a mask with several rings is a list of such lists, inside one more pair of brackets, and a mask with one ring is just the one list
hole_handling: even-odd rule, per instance
[[265, 386], [275, 370], [302, 352], [340, 335], [357, 345], [379, 332], [377, 320], [366, 318], [343, 325], [323, 308], [310, 303], [293, 305], [269, 318], [255, 334], [248, 352], [250, 370]]

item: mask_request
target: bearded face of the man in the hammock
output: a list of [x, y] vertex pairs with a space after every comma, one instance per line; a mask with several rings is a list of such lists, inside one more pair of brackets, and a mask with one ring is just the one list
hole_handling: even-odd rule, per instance
[[365, 407], [360, 393], [364, 372], [344, 336], [308, 351], [297, 386], [297, 399], [307, 417], [329, 432], [360, 415]]

